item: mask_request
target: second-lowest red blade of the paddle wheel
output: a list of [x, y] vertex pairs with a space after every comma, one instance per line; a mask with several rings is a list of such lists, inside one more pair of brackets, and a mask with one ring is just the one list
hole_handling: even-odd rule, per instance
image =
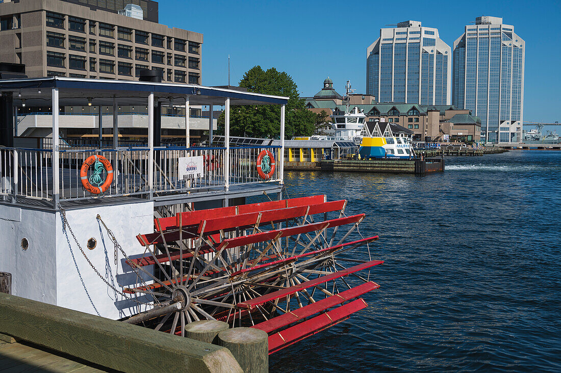
[[366, 282], [364, 284], [358, 285], [357, 287], [348, 289], [344, 292], [337, 293], [333, 296], [324, 298], [315, 303], [310, 303], [307, 306], [296, 308], [286, 314], [273, 317], [272, 319], [263, 321], [262, 323], [251, 326], [251, 328], [261, 329], [266, 331], [266, 333], [271, 333], [272, 331], [278, 330], [292, 323], [296, 323], [306, 317], [318, 314], [321, 311], [325, 311], [328, 308], [340, 305], [343, 302], [351, 300], [352, 298], [360, 297], [362, 294], [378, 289], [380, 285], [375, 282]]

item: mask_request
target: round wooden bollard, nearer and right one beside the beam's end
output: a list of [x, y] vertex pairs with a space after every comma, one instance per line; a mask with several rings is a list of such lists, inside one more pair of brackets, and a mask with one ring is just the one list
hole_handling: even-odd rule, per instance
[[233, 328], [218, 333], [217, 344], [232, 352], [246, 373], [269, 371], [269, 337], [255, 328]]

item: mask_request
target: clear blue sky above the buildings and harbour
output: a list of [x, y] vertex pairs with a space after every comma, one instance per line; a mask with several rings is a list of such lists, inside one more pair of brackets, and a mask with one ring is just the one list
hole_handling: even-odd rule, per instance
[[[366, 91], [366, 48], [399, 21], [436, 27], [450, 47], [480, 15], [503, 17], [526, 41], [524, 119], [561, 122], [561, 48], [557, 1], [179, 1], [159, 2], [160, 23], [204, 34], [203, 84], [228, 83], [255, 65], [286, 71], [301, 96], [333, 79]], [[558, 127], [561, 132], [561, 127]]]

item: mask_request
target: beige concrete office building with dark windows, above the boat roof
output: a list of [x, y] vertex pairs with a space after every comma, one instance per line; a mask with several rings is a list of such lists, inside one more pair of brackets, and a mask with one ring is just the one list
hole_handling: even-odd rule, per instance
[[154, 69], [201, 84], [203, 34], [158, 24], [157, 3], [140, 3], [142, 19], [120, 15], [123, 1], [4, 1], [0, 62], [24, 64], [29, 77], [138, 80]]

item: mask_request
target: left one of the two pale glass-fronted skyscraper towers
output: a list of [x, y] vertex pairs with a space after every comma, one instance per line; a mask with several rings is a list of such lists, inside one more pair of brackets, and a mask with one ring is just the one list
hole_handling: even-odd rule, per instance
[[419, 21], [380, 29], [366, 50], [366, 93], [378, 102], [449, 105], [452, 50]]

